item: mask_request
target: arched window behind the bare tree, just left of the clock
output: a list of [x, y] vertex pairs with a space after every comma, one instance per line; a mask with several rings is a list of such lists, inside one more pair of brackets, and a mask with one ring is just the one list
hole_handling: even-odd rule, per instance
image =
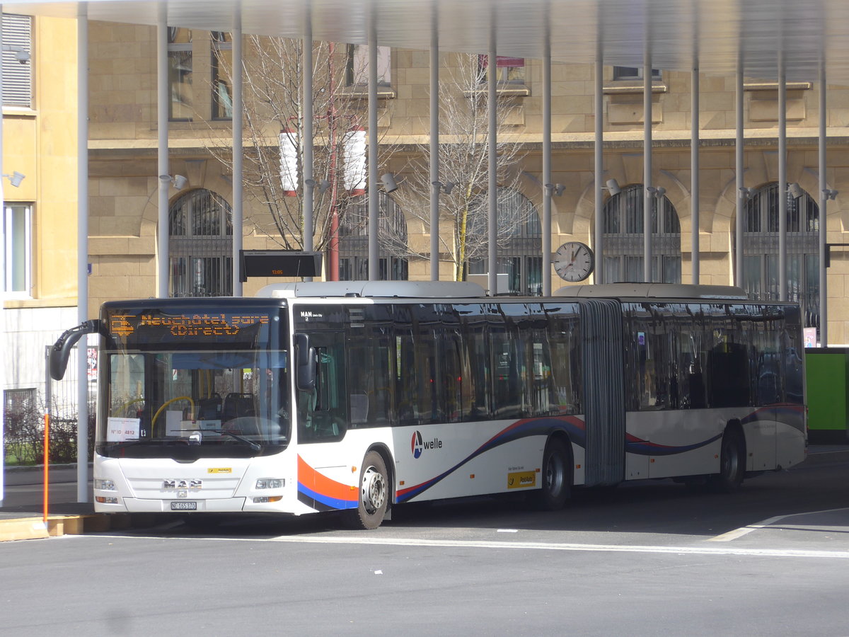
[[[486, 262], [488, 200], [475, 201], [469, 215], [469, 274], [488, 272]], [[475, 239], [476, 238], [476, 239]], [[543, 227], [524, 194], [498, 189], [498, 273], [507, 274], [510, 294], [543, 294]]]

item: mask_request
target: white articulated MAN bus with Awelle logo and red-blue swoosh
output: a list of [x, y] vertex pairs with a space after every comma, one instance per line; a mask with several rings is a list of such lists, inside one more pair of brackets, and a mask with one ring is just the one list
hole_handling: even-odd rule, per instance
[[799, 307], [737, 288], [269, 285], [104, 303], [99, 512], [340, 511], [675, 478], [722, 491], [805, 458]]

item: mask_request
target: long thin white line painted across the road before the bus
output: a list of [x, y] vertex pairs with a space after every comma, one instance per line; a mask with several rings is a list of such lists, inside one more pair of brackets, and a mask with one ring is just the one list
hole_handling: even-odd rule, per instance
[[[68, 536], [70, 537], [70, 536]], [[79, 538], [138, 538], [163, 539], [159, 537], [98, 535], [76, 536]], [[739, 555], [749, 557], [806, 557], [830, 558], [849, 560], [846, 550], [800, 550], [800, 549], [735, 549], [732, 547], [707, 546], [642, 546], [628, 544], [568, 544], [559, 542], [493, 542], [488, 540], [453, 540], [453, 539], [417, 539], [417, 538], [380, 538], [357, 536], [278, 536], [276, 538], [171, 538], [207, 540], [212, 542], [281, 542], [284, 544], [363, 544], [377, 546], [418, 546], [430, 548], [455, 549], [520, 549], [520, 550], [570, 550], [594, 551], [607, 553], [655, 553], [666, 555]]]

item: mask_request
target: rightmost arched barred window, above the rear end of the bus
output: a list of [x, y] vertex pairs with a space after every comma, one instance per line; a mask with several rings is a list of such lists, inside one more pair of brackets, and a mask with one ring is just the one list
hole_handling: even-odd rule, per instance
[[[752, 299], [779, 300], [779, 184], [746, 202], [743, 281]], [[801, 303], [807, 327], [819, 327], [819, 206], [811, 195], [787, 194], [787, 299]], [[736, 245], [736, 244], [735, 244]]]

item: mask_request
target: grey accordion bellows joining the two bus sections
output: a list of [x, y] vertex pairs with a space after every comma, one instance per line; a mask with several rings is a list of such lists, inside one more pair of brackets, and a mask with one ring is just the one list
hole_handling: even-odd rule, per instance
[[610, 299], [581, 300], [582, 369], [588, 487], [625, 478], [622, 311]]

